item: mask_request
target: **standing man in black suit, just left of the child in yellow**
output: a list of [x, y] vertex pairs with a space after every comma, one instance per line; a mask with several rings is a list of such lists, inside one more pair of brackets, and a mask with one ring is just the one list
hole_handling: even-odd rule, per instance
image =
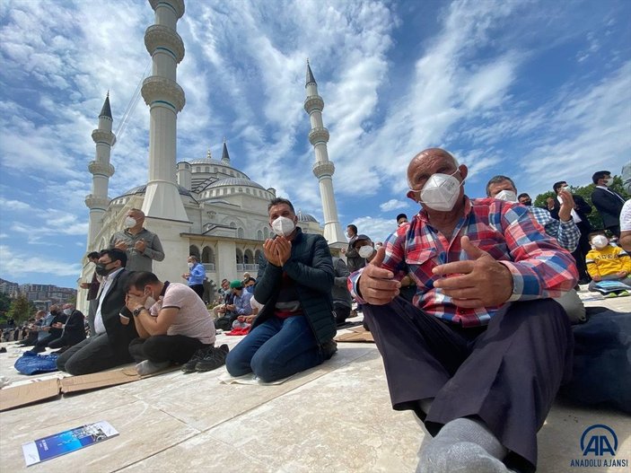
[[[564, 189], [569, 190], [569, 186], [565, 180], [559, 180], [558, 182], [555, 182], [552, 188], [557, 194], [557, 198], [552, 199], [552, 201], [548, 201], [548, 210], [550, 211], [552, 218], [559, 220], [558, 211], [561, 208], [561, 199], [558, 195]], [[590, 275], [587, 273], [587, 267], [585, 266], [585, 255], [589, 250], [592, 250], [592, 245], [590, 245], [590, 239], [588, 237], [588, 235], [592, 232], [592, 225], [587, 218], [587, 215], [592, 213], [592, 206], [585, 202], [583, 197], [577, 194], [572, 194], [572, 198], [574, 199], [574, 209], [571, 213], [572, 219], [574, 220], [574, 223], [576, 223], [579, 232], [581, 232], [581, 239], [578, 241], [576, 250], [572, 252], [572, 256], [574, 257], [574, 261], [576, 261], [576, 268], [578, 269], [578, 282], [581, 285], [586, 285], [592, 280]]]

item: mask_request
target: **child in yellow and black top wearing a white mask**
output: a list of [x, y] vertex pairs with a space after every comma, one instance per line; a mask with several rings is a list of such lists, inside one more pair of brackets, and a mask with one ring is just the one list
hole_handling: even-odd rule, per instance
[[[587, 272], [592, 276], [588, 289], [604, 293], [605, 297], [629, 295], [631, 291], [631, 258], [625, 250], [609, 244], [604, 232], [592, 232], [589, 235], [592, 250], [585, 256]], [[611, 283], [603, 283], [611, 281]], [[622, 283], [614, 290], [613, 283]], [[627, 285], [627, 289], [625, 288]], [[609, 286], [609, 287], [608, 287]]]

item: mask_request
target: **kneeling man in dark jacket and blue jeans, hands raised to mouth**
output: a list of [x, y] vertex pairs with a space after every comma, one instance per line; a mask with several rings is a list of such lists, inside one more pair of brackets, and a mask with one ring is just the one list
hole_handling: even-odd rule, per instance
[[263, 309], [225, 364], [232, 376], [254, 372], [261, 381], [276, 381], [321, 364], [337, 350], [333, 265], [324, 237], [295, 226], [289, 200], [275, 198], [267, 212], [276, 238], [263, 244], [254, 286]]

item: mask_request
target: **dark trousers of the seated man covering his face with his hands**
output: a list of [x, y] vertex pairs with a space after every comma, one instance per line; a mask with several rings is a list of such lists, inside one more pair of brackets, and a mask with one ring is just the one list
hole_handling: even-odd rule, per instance
[[154, 335], [149, 338], [135, 338], [129, 344], [129, 354], [136, 362], [149, 360], [154, 363], [173, 362], [184, 364], [206, 346], [197, 338], [184, 335]]

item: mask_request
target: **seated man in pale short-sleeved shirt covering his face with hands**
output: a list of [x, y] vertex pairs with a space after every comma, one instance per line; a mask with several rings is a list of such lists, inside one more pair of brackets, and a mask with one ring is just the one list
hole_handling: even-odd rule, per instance
[[137, 272], [127, 283], [125, 305], [140, 336], [129, 345], [138, 374], [157, 372], [171, 363], [185, 364], [197, 350], [213, 349], [213, 318], [188, 285], [162, 283], [153, 273]]

